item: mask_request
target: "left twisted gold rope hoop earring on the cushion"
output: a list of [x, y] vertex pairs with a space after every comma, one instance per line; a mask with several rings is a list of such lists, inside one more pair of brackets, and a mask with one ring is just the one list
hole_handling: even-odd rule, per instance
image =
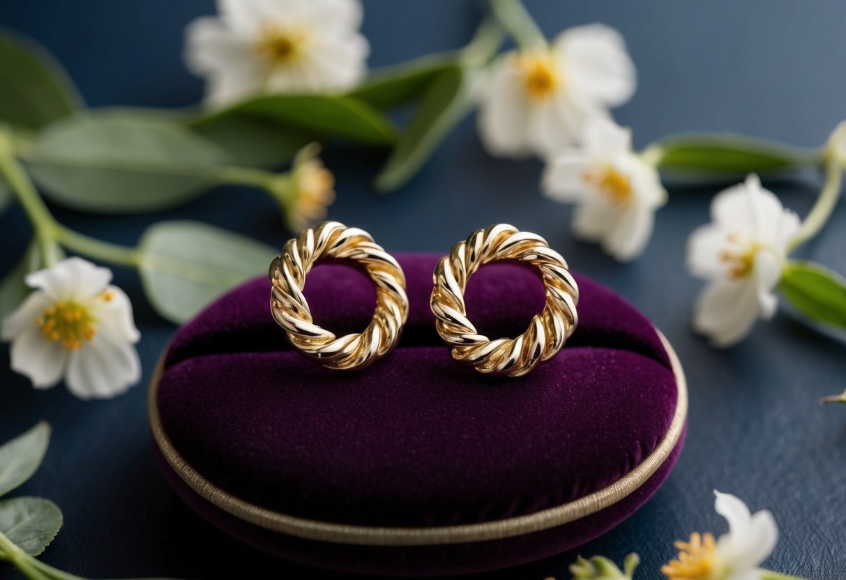
[[[351, 260], [370, 276], [376, 309], [363, 332], [336, 337], [314, 324], [303, 288], [319, 260]], [[409, 314], [405, 276], [397, 260], [369, 233], [338, 222], [322, 222], [288, 240], [270, 266], [270, 280], [274, 320], [294, 348], [329, 369], [364, 369], [384, 356], [397, 344]]]

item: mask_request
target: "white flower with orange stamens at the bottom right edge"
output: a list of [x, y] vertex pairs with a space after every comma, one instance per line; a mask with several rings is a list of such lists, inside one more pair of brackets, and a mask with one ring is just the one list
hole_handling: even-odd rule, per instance
[[678, 560], [662, 566], [669, 580], [759, 580], [761, 562], [772, 554], [778, 527], [772, 513], [751, 515], [734, 495], [717, 495], [714, 508], [728, 521], [728, 533], [716, 541], [711, 533], [693, 533], [689, 542], [676, 542]]

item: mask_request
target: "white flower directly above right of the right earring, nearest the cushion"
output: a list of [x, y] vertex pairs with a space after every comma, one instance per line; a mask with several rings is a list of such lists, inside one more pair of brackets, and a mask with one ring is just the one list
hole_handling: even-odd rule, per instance
[[631, 132], [604, 118], [587, 125], [581, 149], [550, 157], [541, 184], [553, 200], [579, 204], [574, 233], [620, 261], [643, 252], [667, 201], [656, 168], [632, 150]]

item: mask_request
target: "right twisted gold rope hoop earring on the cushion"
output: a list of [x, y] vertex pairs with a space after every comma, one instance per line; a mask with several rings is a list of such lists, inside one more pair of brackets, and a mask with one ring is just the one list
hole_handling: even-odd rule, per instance
[[[467, 281], [481, 265], [496, 260], [535, 265], [546, 289], [543, 311], [516, 338], [491, 340], [479, 334], [467, 318]], [[437, 263], [434, 282], [431, 311], [437, 318], [438, 334], [450, 345], [455, 360], [481, 373], [525, 375], [558, 354], [579, 324], [579, 287], [570, 276], [567, 262], [541, 236], [520, 232], [508, 224], [476, 230], [464, 242], [456, 243], [449, 255]], [[508, 304], [503, 304], [503, 308], [508, 308]]]

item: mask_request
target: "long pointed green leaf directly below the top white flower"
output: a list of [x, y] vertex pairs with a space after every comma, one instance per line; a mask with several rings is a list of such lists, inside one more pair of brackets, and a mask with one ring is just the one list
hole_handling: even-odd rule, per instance
[[362, 145], [390, 146], [396, 140], [393, 125], [373, 107], [352, 96], [258, 96], [221, 112], [198, 119], [203, 126], [229, 115], [249, 115], [306, 133], [343, 137]]

